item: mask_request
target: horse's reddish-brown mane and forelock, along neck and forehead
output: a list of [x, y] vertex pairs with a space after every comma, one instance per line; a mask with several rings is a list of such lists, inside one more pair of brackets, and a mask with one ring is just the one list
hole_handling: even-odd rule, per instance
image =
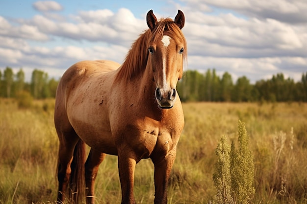
[[183, 59], [186, 59], [187, 45], [181, 30], [172, 19], [161, 19], [156, 24], [156, 27], [153, 29], [153, 31], [150, 29], [146, 30], [132, 44], [122, 67], [117, 73], [115, 82], [123, 80], [129, 81], [145, 70], [149, 55], [148, 45], [150, 42], [154, 43], [158, 40], [161, 40], [164, 32], [167, 32], [167, 34], [173, 38], [180, 39], [182, 42], [184, 42], [185, 51], [183, 52]]

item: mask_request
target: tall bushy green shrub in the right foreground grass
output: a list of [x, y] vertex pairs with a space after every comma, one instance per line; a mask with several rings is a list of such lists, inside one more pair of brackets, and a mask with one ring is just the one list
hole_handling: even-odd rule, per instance
[[255, 195], [254, 157], [249, 150], [249, 137], [245, 125], [238, 121], [239, 147], [231, 148], [225, 136], [216, 148], [218, 161], [215, 165], [213, 180], [217, 195], [210, 204], [246, 204]]

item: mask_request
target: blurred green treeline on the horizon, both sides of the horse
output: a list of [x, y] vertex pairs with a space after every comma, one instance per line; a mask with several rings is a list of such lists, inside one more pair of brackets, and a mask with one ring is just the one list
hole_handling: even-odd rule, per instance
[[[0, 97], [15, 98], [26, 93], [34, 99], [54, 98], [58, 82], [38, 69], [33, 70], [31, 81], [26, 82], [22, 68], [14, 73], [12, 68], [6, 67], [0, 71]], [[220, 77], [215, 69], [207, 69], [204, 74], [187, 70], [177, 84], [177, 91], [185, 102], [307, 102], [307, 72], [298, 82], [278, 73], [271, 79], [251, 84], [246, 76], [234, 83], [230, 73], [225, 72]]]

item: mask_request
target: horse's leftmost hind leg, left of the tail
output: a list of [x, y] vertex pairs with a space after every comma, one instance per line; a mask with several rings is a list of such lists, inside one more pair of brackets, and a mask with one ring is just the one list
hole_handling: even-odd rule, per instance
[[63, 203], [65, 200], [65, 192], [71, 175], [71, 163], [73, 160], [74, 149], [79, 139], [75, 131], [72, 131], [68, 135], [69, 139], [65, 137], [67, 136], [66, 134], [58, 132], [60, 140], [57, 171], [57, 179], [59, 182], [57, 195], [58, 203]]

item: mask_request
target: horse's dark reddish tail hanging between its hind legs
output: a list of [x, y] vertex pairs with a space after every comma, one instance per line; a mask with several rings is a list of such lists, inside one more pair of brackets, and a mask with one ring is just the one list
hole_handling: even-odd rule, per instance
[[79, 139], [74, 150], [69, 180], [70, 200], [77, 204], [85, 195], [85, 143]]

